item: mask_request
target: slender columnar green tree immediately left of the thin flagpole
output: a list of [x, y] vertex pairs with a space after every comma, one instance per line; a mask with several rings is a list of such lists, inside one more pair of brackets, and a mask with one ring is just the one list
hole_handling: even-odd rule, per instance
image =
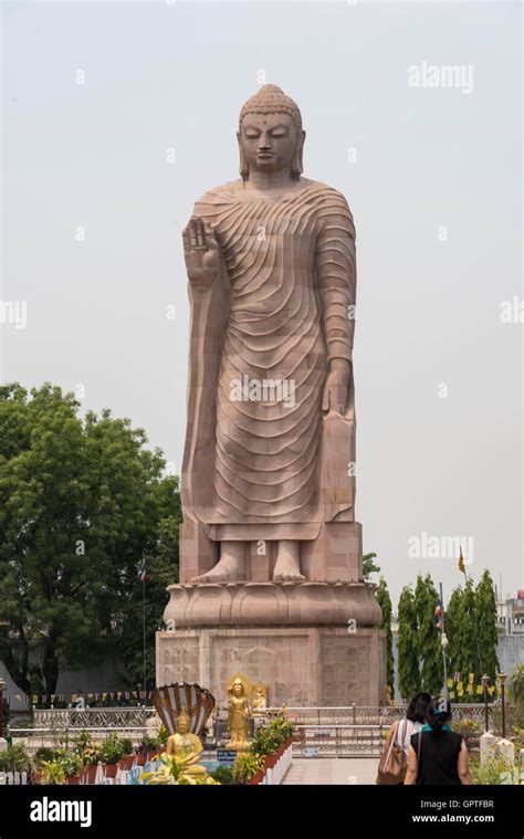
[[439, 595], [431, 575], [421, 574], [415, 587], [415, 612], [417, 615], [417, 650], [420, 662], [421, 688], [427, 693], [440, 693], [443, 683], [443, 659], [440, 630], [434, 622], [434, 608]]

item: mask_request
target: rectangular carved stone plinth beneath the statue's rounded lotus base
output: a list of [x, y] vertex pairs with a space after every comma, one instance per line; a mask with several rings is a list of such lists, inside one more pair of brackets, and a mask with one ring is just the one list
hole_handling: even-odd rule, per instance
[[386, 684], [386, 640], [379, 629], [269, 627], [157, 632], [157, 685], [196, 681], [222, 704], [242, 672], [268, 685], [270, 705], [378, 705]]

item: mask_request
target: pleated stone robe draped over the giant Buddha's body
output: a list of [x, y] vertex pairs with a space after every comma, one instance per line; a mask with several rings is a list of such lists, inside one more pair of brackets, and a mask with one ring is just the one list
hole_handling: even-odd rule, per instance
[[227, 183], [195, 207], [230, 286], [207, 460], [214, 503], [195, 516], [220, 539], [311, 539], [326, 520], [322, 396], [329, 360], [352, 357], [355, 228], [344, 196], [302, 183], [277, 200]]

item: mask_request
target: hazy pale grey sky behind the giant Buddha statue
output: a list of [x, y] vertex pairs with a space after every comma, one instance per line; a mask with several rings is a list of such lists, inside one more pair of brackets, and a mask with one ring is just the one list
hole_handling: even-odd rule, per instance
[[[83, 409], [129, 417], [179, 470], [180, 232], [238, 177], [242, 103], [280, 84], [304, 175], [343, 191], [357, 228], [365, 550], [395, 608], [419, 570], [447, 596], [461, 581], [453, 558], [409, 556], [422, 533], [472, 538], [475, 579], [488, 567], [514, 592], [524, 325], [500, 307], [524, 296], [521, 39], [520, 4], [500, 0], [4, 2], [1, 300], [28, 321], [0, 325], [1, 379], [82, 385]], [[429, 65], [461, 75], [429, 87]]]

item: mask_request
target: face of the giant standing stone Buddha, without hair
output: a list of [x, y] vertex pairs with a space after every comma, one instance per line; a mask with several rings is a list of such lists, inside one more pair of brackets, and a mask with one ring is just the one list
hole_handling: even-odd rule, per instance
[[247, 114], [239, 134], [250, 171], [290, 170], [298, 143], [289, 114]]

